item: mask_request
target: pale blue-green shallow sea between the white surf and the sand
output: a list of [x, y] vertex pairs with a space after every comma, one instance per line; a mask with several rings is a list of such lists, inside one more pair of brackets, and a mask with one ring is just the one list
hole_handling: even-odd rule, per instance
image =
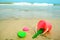
[[60, 6], [0, 5], [0, 19], [60, 18]]

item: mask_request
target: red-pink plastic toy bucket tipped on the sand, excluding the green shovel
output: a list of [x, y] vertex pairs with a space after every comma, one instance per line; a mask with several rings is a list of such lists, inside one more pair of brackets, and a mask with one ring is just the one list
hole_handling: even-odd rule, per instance
[[52, 25], [45, 20], [40, 20], [37, 24], [37, 30], [40, 30], [41, 28], [44, 29], [43, 34], [45, 34], [46, 32], [50, 32]]

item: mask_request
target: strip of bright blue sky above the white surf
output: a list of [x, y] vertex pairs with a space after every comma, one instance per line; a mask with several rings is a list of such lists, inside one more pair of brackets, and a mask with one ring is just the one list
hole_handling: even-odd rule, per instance
[[0, 0], [0, 2], [30, 2], [30, 3], [60, 4], [60, 0]]

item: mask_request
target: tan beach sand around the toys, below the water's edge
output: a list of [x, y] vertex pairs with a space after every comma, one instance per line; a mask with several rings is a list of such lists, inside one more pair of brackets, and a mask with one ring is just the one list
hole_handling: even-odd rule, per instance
[[[0, 20], [0, 40], [60, 40], [60, 19], [44, 19], [52, 24], [52, 30], [49, 35], [32, 39], [35, 33], [36, 25], [41, 19], [8, 19]], [[27, 36], [19, 38], [17, 32], [24, 26], [29, 27]]]

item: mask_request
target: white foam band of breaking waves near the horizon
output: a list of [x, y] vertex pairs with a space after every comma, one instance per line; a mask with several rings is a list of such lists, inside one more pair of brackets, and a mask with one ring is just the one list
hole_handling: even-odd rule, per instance
[[54, 4], [49, 4], [49, 3], [28, 3], [28, 2], [18, 2], [18, 3], [12, 3], [12, 4], [0, 4], [0, 5], [53, 6]]

